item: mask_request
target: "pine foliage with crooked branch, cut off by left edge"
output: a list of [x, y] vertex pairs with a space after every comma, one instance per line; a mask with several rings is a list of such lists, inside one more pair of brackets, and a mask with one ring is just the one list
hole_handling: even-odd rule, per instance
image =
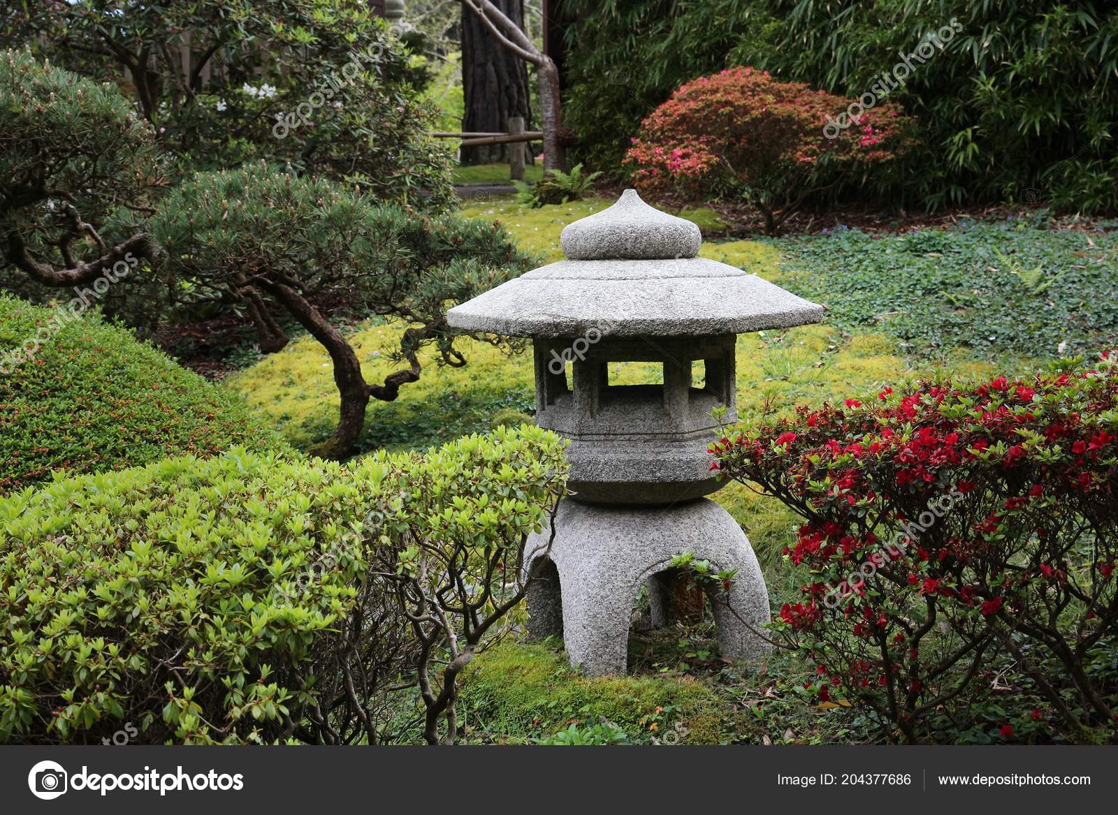
[[0, 53], [0, 241], [8, 264], [79, 286], [158, 253], [138, 225], [160, 186], [151, 126], [111, 85]]

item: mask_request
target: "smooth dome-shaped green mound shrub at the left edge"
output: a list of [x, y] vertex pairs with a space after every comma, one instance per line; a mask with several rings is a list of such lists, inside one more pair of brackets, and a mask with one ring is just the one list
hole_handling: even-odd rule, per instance
[[[0, 495], [56, 470], [121, 470], [238, 444], [286, 448], [235, 394], [97, 316], [55, 330], [58, 311], [0, 294]], [[41, 344], [16, 361], [37, 332]]]

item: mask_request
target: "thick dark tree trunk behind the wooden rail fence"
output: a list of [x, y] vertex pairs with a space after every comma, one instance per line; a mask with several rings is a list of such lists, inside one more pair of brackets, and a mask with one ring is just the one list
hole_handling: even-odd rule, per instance
[[[493, 4], [523, 29], [523, 0], [493, 0]], [[505, 133], [513, 116], [522, 116], [525, 129], [531, 130], [527, 64], [498, 42], [485, 23], [465, 8], [462, 10], [462, 92], [466, 107], [462, 130]], [[462, 163], [506, 163], [510, 150], [523, 149], [523, 144], [463, 148]]]

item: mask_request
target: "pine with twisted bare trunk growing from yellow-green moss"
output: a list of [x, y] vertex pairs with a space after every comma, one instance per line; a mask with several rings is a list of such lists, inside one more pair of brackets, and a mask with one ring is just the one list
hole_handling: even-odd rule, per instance
[[[391, 401], [419, 379], [425, 345], [437, 349], [440, 363], [465, 364], [446, 332], [448, 303], [531, 266], [495, 224], [378, 205], [325, 179], [266, 164], [198, 173], [170, 192], [149, 228], [172, 275], [215, 301], [244, 305], [264, 351], [287, 343], [283, 313], [326, 349], [341, 418], [314, 451], [325, 457], [352, 451], [370, 399]], [[382, 382], [366, 381], [352, 345], [318, 305], [339, 301], [350, 312], [408, 324], [402, 367]]]

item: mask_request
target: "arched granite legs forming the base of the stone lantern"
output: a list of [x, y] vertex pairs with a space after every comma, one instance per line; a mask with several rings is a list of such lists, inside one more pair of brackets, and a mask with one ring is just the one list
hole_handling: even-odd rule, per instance
[[[550, 551], [548, 543], [551, 541]], [[672, 558], [691, 552], [716, 571], [737, 569], [729, 593], [738, 619], [713, 603], [722, 656], [746, 660], [769, 645], [749, 629], [769, 620], [768, 591], [749, 539], [724, 509], [699, 499], [665, 509], [582, 504], [565, 499], [551, 530], [524, 549], [525, 569], [540, 558], [540, 576], [528, 590], [529, 635], [562, 634], [574, 666], [589, 675], [624, 673], [633, 604], [647, 581], [654, 623], [663, 624], [666, 598], [654, 580]]]

